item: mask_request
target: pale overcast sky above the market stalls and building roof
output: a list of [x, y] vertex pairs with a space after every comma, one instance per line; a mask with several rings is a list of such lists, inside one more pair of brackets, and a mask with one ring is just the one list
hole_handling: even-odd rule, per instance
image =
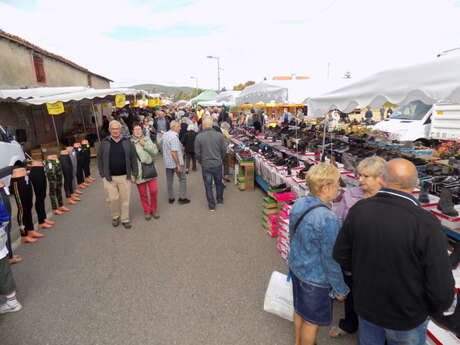
[[460, 0], [0, 0], [0, 28], [115, 86], [354, 79], [460, 47]]

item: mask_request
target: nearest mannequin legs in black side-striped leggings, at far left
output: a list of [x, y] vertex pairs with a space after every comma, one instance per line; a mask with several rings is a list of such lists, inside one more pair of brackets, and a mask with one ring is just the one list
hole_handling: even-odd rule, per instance
[[10, 193], [14, 195], [18, 208], [17, 221], [23, 243], [37, 242], [44, 235], [34, 230], [32, 220], [33, 191], [25, 168], [13, 170], [10, 181]]

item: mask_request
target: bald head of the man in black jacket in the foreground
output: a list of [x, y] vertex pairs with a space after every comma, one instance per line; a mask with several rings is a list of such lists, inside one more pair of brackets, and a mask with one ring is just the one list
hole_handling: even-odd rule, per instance
[[418, 174], [415, 165], [404, 158], [389, 161], [382, 173], [385, 187], [412, 192], [418, 184]]

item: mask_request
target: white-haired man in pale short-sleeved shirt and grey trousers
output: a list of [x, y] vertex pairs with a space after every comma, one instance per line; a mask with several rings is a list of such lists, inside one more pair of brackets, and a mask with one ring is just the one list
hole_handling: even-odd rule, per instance
[[174, 174], [179, 179], [179, 204], [188, 204], [187, 198], [187, 178], [185, 175], [184, 152], [179, 140], [180, 124], [177, 121], [171, 121], [170, 130], [167, 131], [161, 139], [163, 150], [163, 160], [166, 168], [166, 184], [168, 188], [169, 203], [176, 200], [174, 197]]

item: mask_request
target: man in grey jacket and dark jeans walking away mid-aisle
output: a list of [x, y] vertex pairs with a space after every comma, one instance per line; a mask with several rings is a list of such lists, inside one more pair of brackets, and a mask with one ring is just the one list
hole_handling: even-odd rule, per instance
[[213, 119], [203, 119], [203, 130], [195, 139], [195, 156], [201, 164], [204, 188], [210, 211], [216, 210], [216, 200], [212, 190], [212, 182], [216, 185], [217, 203], [224, 203], [224, 183], [222, 182], [222, 163], [226, 148], [222, 133], [213, 129]]

